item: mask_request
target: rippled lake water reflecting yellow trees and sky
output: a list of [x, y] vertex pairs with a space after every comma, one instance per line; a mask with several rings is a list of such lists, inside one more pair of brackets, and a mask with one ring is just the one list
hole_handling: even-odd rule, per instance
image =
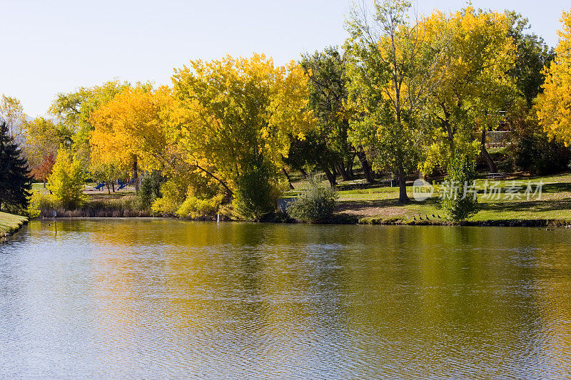
[[0, 378], [571, 376], [571, 230], [32, 221]]

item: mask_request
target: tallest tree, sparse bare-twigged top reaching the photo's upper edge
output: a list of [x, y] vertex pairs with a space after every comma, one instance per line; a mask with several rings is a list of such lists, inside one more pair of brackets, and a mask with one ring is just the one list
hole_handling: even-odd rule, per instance
[[353, 142], [368, 149], [375, 166], [398, 175], [399, 202], [408, 202], [406, 175], [424, 138], [418, 115], [439, 83], [440, 46], [428, 41], [409, 1], [375, 0], [372, 11], [355, 6], [347, 29]]

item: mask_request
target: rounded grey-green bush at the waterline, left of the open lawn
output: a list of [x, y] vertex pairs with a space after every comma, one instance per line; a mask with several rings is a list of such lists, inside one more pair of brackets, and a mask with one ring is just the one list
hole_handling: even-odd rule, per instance
[[321, 185], [318, 177], [310, 176], [308, 188], [288, 207], [288, 214], [303, 222], [324, 222], [333, 215], [336, 199], [333, 188]]

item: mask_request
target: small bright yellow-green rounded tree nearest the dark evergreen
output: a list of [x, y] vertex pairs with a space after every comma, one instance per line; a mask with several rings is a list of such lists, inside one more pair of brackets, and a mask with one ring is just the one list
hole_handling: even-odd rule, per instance
[[51, 175], [48, 190], [56, 204], [66, 209], [80, 207], [86, 200], [84, 195], [86, 175], [81, 161], [70, 150], [60, 148]]

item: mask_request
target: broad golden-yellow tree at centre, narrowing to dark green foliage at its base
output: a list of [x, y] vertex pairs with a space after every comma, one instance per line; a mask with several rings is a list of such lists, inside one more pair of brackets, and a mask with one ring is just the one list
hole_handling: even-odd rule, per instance
[[271, 58], [191, 61], [173, 76], [171, 138], [183, 159], [225, 188], [242, 215], [273, 210], [273, 185], [291, 136], [313, 123], [300, 66]]

